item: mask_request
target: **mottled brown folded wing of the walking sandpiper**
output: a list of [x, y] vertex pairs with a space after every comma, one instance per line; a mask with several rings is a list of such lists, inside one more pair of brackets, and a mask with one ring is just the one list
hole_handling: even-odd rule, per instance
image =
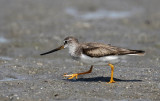
[[90, 57], [103, 57], [109, 55], [125, 55], [132, 51], [101, 43], [86, 43], [83, 45], [82, 52]]

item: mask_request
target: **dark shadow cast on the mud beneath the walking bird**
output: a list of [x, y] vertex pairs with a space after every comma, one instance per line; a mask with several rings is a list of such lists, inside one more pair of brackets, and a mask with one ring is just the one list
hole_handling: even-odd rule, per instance
[[[142, 80], [122, 80], [122, 79], [117, 79], [117, 78], [113, 78], [114, 81], [117, 82], [142, 82]], [[71, 81], [71, 82], [78, 82], [78, 81], [82, 81], [82, 82], [109, 82], [110, 81], [110, 77], [92, 77], [92, 78], [78, 78], [78, 79], [63, 79], [63, 80], [67, 80], [67, 81]]]

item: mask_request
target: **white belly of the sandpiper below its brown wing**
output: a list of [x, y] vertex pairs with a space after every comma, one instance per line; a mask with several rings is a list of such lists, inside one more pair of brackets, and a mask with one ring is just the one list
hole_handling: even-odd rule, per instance
[[116, 63], [119, 61], [118, 56], [104, 56], [104, 57], [89, 57], [87, 55], [82, 54], [80, 56], [80, 61], [85, 64], [91, 64], [91, 65], [106, 65], [108, 63]]

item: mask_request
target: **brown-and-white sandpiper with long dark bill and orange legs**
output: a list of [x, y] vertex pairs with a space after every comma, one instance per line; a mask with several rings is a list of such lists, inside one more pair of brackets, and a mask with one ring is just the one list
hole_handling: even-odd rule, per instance
[[145, 54], [145, 51], [142, 50], [131, 50], [120, 47], [111, 46], [110, 44], [103, 43], [79, 43], [78, 39], [75, 37], [69, 36], [64, 39], [64, 45], [53, 49], [49, 52], [42, 53], [40, 55], [46, 55], [64, 48], [69, 49], [69, 54], [74, 60], [78, 60], [82, 63], [91, 65], [90, 70], [83, 73], [74, 73], [67, 75], [68, 79], [76, 78], [78, 75], [88, 74], [92, 72], [94, 65], [109, 65], [111, 67], [111, 78], [108, 83], [114, 83], [113, 72], [114, 66], [113, 63], [119, 61], [121, 56], [124, 55], [137, 55], [142, 56]]

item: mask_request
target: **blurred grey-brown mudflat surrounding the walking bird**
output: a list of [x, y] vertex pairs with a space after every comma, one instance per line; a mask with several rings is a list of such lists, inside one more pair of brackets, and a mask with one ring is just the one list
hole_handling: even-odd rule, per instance
[[[100, 101], [160, 100], [159, 4], [160, 0], [0, 0], [1, 99], [73, 100], [79, 96], [81, 100], [95, 101], [99, 100], [96, 97]], [[105, 78], [91, 79], [93, 82], [82, 80], [82, 83], [64, 81], [63, 73], [85, 68], [79, 69], [81, 66], [73, 63], [65, 50], [44, 57], [39, 54], [63, 44], [67, 36], [75, 36], [80, 42], [96, 41], [145, 50], [146, 56], [119, 64], [115, 77], [146, 82], [122, 82], [108, 88], [96, 82]], [[97, 68], [90, 77], [110, 76], [110, 69], [107, 73], [105, 70]], [[70, 91], [70, 84], [76, 89]], [[88, 88], [89, 85], [92, 87]], [[117, 88], [118, 85], [124, 89]], [[146, 88], [141, 88], [142, 85]], [[91, 89], [96, 87], [97, 92], [93, 94]], [[130, 87], [132, 92], [125, 87]], [[75, 92], [77, 97], [71, 96]]]

